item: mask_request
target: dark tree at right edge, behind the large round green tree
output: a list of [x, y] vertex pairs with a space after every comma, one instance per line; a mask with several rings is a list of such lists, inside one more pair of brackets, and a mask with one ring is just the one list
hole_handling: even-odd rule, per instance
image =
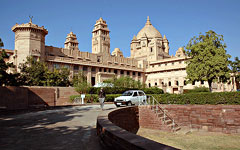
[[[233, 77], [235, 78], [235, 82], [233, 80], [233, 86], [234, 84], [237, 84], [240, 82], [240, 60], [238, 57], [235, 57], [234, 61], [230, 61], [230, 66], [231, 66], [231, 73], [233, 74]], [[233, 87], [234, 88], [234, 87]]]

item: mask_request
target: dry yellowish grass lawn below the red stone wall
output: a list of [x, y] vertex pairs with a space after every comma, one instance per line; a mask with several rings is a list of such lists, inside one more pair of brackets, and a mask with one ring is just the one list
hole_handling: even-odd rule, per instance
[[183, 150], [240, 150], [240, 134], [198, 131], [184, 134], [140, 128], [137, 135]]

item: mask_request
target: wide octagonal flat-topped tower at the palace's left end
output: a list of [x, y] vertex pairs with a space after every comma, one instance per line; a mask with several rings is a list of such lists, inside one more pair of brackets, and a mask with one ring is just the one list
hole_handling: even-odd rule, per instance
[[15, 24], [12, 31], [15, 33], [15, 65], [24, 63], [28, 56], [44, 61], [45, 36], [48, 34], [44, 26], [33, 24], [30, 17], [29, 23]]

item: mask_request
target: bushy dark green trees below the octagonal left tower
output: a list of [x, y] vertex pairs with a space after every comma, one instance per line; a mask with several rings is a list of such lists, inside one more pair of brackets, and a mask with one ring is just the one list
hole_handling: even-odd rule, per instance
[[21, 82], [29, 86], [68, 86], [70, 84], [67, 68], [48, 70], [44, 62], [28, 57], [27, 61], [20, 65]]

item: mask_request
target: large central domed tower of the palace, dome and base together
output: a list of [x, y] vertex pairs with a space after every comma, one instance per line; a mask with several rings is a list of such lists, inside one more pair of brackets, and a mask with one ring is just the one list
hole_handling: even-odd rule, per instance
[[168, 58], [168, 40], [152, 25], [149, 17], [145, 26], [134, 36], [131, 42], [131, 58], [157, 61]]

